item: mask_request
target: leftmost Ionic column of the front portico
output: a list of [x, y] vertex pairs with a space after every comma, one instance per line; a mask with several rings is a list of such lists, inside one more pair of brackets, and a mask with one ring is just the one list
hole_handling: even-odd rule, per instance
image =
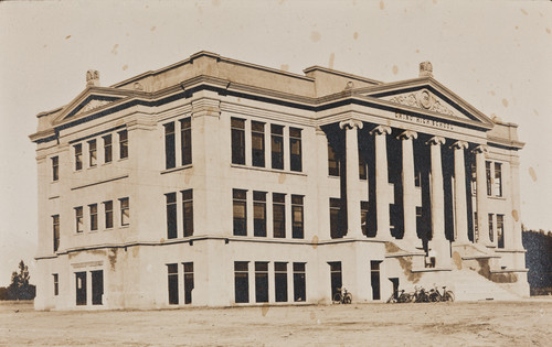
[[358, 129], [362, 122], [353, 119], [343, 120], [339, 128], [346, 130], [347, 155], [347, 236], [363, 238], [360, 225], [360, 182], [359, 182], [359, 138]]

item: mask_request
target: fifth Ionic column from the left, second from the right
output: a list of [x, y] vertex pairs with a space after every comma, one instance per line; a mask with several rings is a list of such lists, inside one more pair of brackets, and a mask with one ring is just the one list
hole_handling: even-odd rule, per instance
[[466, 205], [466, 165], [464, 162], [464, 150], [468, 143], [457, 141], [454, 149], [454, 203], [455, 203], [455, 229], [458, 243], [469, 243], [468, 239], [468, 210]]

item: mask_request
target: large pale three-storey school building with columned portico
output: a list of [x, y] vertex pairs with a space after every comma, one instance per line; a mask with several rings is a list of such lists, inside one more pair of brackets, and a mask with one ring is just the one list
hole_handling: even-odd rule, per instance
[[527, 296], [517, 126], [209, 52], [38, 115], [38, 310]]

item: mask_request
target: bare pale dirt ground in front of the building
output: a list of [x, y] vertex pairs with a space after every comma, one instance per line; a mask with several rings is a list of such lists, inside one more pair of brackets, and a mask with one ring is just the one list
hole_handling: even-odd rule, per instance
[[34, 312], [0, 302], [0, 346], [552, 346], [552, 300]]

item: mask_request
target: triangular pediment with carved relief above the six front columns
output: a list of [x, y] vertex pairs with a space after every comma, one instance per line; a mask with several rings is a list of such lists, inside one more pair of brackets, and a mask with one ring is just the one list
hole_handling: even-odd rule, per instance
[[383, 84], [357, 93], [394, 104], [410, 112], [420, 110], [448, 120], [481, 123], [486, 128], [493, 124], [487, 116], [432, 77]]

